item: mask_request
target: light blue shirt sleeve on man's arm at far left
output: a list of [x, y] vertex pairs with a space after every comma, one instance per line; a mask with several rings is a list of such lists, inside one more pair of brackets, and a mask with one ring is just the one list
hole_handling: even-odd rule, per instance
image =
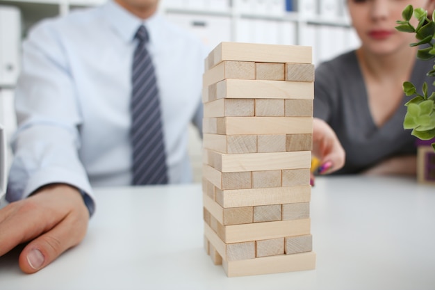
[[92, 188], [78, 153], [81, 112], [74, 76], [62, 40], [50, 27], [43, 22], [23, 45], [15, 90], [18, 129], [6, 198], [13, 202], [41, 186], [65, 183], [85, 192], [93, 209]]

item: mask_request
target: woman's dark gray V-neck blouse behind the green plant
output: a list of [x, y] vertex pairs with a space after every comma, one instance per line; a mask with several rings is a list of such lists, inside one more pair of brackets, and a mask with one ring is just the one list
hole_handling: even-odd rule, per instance
[[[433, 61], [416, 61], [411, 82], [417, 90], [421, 90], [424, 81], [433, 90], [434, 79], [426, 76], [432, 65]], [[407, 112], [404, 104], [411, 97], [403, 95], [402, 105], [390, 120], [377, 127], [355, 51], [318, 66], [314, 95], [314, 116], [334, 129], [346, 152], [345, 166], [336, 174], [359, 173], [391, 156], [416, 154], [416, 138], [411, 136], [411, 130], [403, 129]]]

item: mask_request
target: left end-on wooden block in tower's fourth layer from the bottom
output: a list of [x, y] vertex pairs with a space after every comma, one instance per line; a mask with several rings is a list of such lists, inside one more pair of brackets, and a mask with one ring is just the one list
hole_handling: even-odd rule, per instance
[[[207, 195], [203, 195], [203, 202], [206, 211], [221, 225], [240, 225], [252, 223], [253, 221], [254, 207], [232, 207], [224, 209]], [[212, 228], [214, 229], [214, 227]], [[217, 227], [215, 228], [217, 229]]]

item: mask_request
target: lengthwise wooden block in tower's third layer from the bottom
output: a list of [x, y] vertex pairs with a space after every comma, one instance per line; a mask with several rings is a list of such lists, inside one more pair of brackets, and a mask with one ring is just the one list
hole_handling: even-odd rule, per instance
[[265, 223], [247, 223], [244, 225], [225, 225], [218, 236], [224, 243], [241, 243], [277, 239], [283, 236], [301, 236], [310, 234], [310, 219], [277, 220]]

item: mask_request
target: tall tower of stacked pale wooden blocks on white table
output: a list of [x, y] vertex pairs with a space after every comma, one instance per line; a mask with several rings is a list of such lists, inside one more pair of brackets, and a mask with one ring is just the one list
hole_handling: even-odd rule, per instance
[[315, 268], [311, 47], [222, 42], [204, 72], [204, 246], [229, 277]]

